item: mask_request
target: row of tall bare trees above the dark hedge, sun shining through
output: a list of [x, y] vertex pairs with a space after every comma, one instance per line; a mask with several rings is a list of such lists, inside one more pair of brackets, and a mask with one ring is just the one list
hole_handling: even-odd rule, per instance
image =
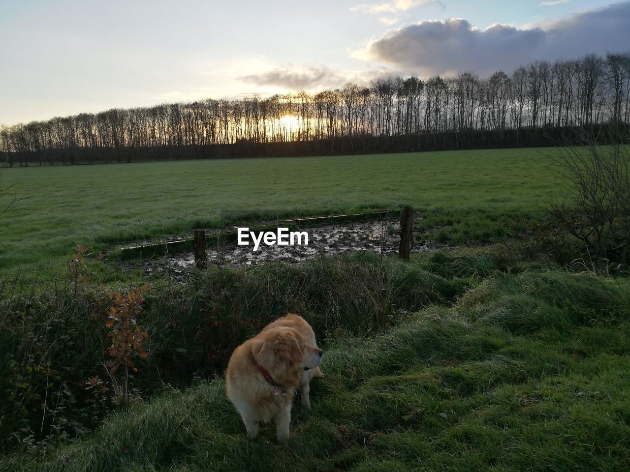
[[539, 60], [511, 75], [386, 77], [310, 94], [114, 108], [0, 127], [0, 151], [390, 137], [630, 121], [630, 53]]

